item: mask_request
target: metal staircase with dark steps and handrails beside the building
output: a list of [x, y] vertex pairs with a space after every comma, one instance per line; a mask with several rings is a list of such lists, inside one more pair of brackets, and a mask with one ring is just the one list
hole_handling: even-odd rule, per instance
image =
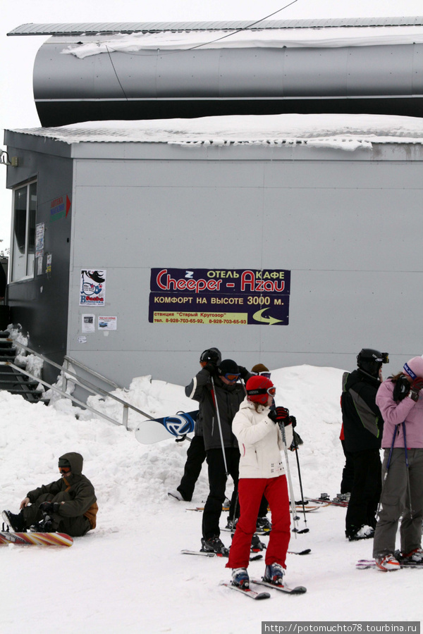
[[[152, 416], [146, 414], [145, 411], [138, 409], [124, 399], [116, 397], [115, 394], [111, 394], [107, 390], [103, 390], [101, 387], [98, 387], [98, 385], [94, 385], [94, 383], [91, 383], [87, 379], [82, 378], [80, 375], [69, 369], [70, 366], [77, 366], [84, 373], [90, 375], [90, 378], [92, 378], [92, 380], [101, 380], [103, 383], [106, 383], [106, 385], [109, 385], [111, 390], [122, 389], [119, 385], [117, 385], [117, 383], [114, 383], [114, 381], [111, 381], [102, 374], [99, 374], [98, 372], [87, 368], [87, 366], [85, 366], [83, 363], [80, 363], [80, 361], [76, 361], [76, 359], [72, 359], [70, 356], [65, 356], [63, 366], [59, 366], [58, 363], [54, 363], [54, 361], [47, 359], [47, 356], [35, 352], [35, 350], [32, 350], [30, 347], [27, 347], [16, 340], [9, 339], [8, 335], [9, 333], [7, 331], [0, 331], [0, 390], [6, 390], [7, 392], [11, 392], [12, 394], [21, 394], [25, 399], [32, 403], [43, 401], [48, 404], [49, 401], [44, 398], [44, 392], [37, 390], [39, 384], [42, 383], [42, 385], [45, 385], [46, 387], [51, 388], [51, 390], [54, 390], [54, 392], [58, 393], [61, 398], [70, 399], [74, 404], [79, 405], [83, 409], [88, 409], [89, 411], [92, 411], [93, 414], [104, 418], [110, 423], [114, 423], [114, 425], [123, 425], [126, 429], [128, 429], [129, 410], [135, 411], [137, 412], [137, 414], [140, 414], [145, 418], [152, 419]], [[16, 357], [17, 347], [24, 349], [30, 354], [34, 354], [39, 359], [42, 359], [44, 363], [48, 363], [50, 366], [54, 366], [54, 368], [57, 368], [59, 370], [58, 374], [61, 374], [63, 377], [62, 389], [57, 387], [56, 385], [51, 385], [50, 383], [47, 383], [47, 381], [42, 378], [37, 378], [35, 375], [26, 371], [24, 368], [20, 368], [19, 366], [17, 366], [16, 363], [13, 362]], [[78, 387], [82, 388], [82, 390], [85, 390], [85, 392], [88, 392], [88, 394], [96, 394], [97, 396], [102, 398], [107, 397], [121, 404], [121, 420], [116, 421], [114, 418], [107, 416], [102, 411], [95, 409], [87, 403], [82, 402], [80, 399], [73, 397], [72, 394], [66, 392], [67, 381], [75, 383], [75, 385], [78, 385]]]

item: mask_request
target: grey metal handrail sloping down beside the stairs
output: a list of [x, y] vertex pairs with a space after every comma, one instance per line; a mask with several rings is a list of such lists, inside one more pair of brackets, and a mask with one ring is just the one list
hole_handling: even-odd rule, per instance
[[[5, 341], [5, 340], [3, 339], [3, 341]], [[45, 361], [46, 363], [49, 363], [49, 365], [54, 366], [55, 368], [58, 368], [61, 371], [61, 373], [63, 373], [63, 377], [65, 379], [66, 379], [66, 375], [71, 376], [73, 378], [72, 382], [75, 383], [76, 385], [79, 385], [80, 387], [82, 387], [83, 390], [87, 390], [87, 392], [91, 392], [92, 394], [95, 394], [96, 396], [108, 397], [108, 398], [113, 399], [114, 401], [120, 403], [123, 406], [123, 416], [122, 416], [122, 421], [123, 422], [122, 423], [118, 423], [117, 421], [114, 421], [113, 418], [109, 418], [109, 416], [106, 416], [105, 414], [101, 414], [101, 412], [99, 412], [98, 410], [90, 407], [87, 404], [82, 403], [78, 399], [75, 399], [75, 397], [72, 397], [71, 394], [68, 394], [68, 392], [64, 392], [63, 390], [59, 390], [58, 387], [55, 387], [54, 385], [50, 385], [49, 383], [47, 383], [47, 381], [44, 381], [44, 380], [40, 379], [39, 377], [36, 377], [35, 375], [32, 375], [32, 374], [28, 373], [27, 371], [24, 371], [23, 368], [20, 368], [19, 366], [16, 366], [14, 363], [11, 363], [10, 361], [0, 361], [1, 365], [8, 365], [8, 366], [11, 366], [13, 368], [16, 368], [19, 372], [29, 376], [30, 378], [33, 378], [34, 380], [39, 381], [39, 383], [42, 383], [43, 385], [48, 385], [49, 387], [51, 387], [52, 390], [55, 390], [56, 392], [59, 392], [63, 397], [69, 398], [73, 402], [78, 403], [79, 405], [81, 405], [82, 407], [85, 407], [86, 409], [89, 409], [90, 411], [93, 411], [94, 414], [99, 414], [99, 416], [102, 416], [103, 418], [106, 418], [106, 420], [111, 421], [111, 423], [114, 423], [115, 425], [121, 425], [121, 424], [125, 425], [126, 429], [128, 429], [128, 409], [132, 409], [133, 411], [136, 411], [137, 414], [141, 414], [141, 416], [145, 416], [145, 418], [149, 418], [149, 420], [153, 419], [152, 416], [150, 416], [149, 414], [146, 414], [146, 412], [142, 411], [142, 409], [138, 409], [137, 407], [135, 407], [134, 405], [131, 405], [127, 401], [124, 401], [123, 399], [120, 399], [119, 397], [116, 397], [114, 394], [110, 394], [110, 392], [107, 392], [106, 390], [103, 390], [101, 387], [97, 387], [96, 385], [93, 385], [92, 383], [90, 383], [90, 381], [87, 381], [85, 379], [80, 378], [74, 372], [71, 372], [70, 370], [68, 370], [66, 368], [63, 368], [63, 366], [59, 366], [59, 363], [55, 363], [54, 361], [51, 361], [50, 359], [47, 359], [47, 356], [44, 356], [44, 354], [40, 354], [39, 352], [35, 352], [35, 350], [32, 350], [30, 347], [26, 346], [23, 343], [18, 342], [17, 340], [6, 339], [6, 341], [12, 342], [13, 344], [16, 344], [16, 346], [22, 347], [27, 352], [30, 352], [30, 354], [35, 354], [35, 356], [37, 356], [39, 359], [42, 359], [42, 361]], [[65, 359], [67, 361], [71, 361], [71, 357], [66, 356]], [[98, 373], [96, 373], [94, 371], [91, 371], [90, 368], [87, 368], [86, 366], [84, 366], [79, 361], [78, 361], [77, 365], [80, 366], [81, 368], [83, 368], [84, 370], [86, 370], [87, 372], [92, 373], [94, 376], [97, 376], [97, 378], [105, 379], [105, 377], [103, 377], [101, 374], [98, 374]], [[111, 385], [114, 385], [114, 383], [109, 381], [109, 379], [106, 379], [106, 381], [108, 383], [111, 383]]]

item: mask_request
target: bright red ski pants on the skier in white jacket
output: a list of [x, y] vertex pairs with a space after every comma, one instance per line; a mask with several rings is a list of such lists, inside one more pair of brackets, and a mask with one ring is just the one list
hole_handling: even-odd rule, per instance
[[238, 482], [240, 518], [236, 525], [226, 568], [247, 568], [250, 562], [251, 538], [255, 533], [257, 513], [262, 495], [271, 510], [271, 532], [266, 550], [266, 565], [281, 564], [286, 568], [286, 552], [290, 540], [290, 514], [286, 476], [278, 478], [241, 478]]

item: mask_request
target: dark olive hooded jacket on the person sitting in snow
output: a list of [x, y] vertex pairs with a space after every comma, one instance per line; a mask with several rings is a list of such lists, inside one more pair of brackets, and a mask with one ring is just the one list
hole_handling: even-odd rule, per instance
[[49, 502], [61, 502], [59, 516], [78, 517], [85, 515], [92, 524], [91, 528], [94, 528], [97, 498], [90, 480], [82, 475], [82, 456], [71, 452], [63, 454], [61, 458], [68, 460], [71, 464], [71, 475], [30, 491], [27, 493], [27, 497], [29, 497], [31, 504], [34, 504], [41, 495], [47, 495], [44, 499], [48, 499]]

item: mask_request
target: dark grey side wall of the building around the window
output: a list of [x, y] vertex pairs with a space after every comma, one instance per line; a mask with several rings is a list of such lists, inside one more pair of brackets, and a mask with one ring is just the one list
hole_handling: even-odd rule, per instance
[[[28, 345], [56, 363], [66, 354], [68, 329], [69, 259], [72, 206], [68, 216], [53, 220], [51, 205], [68, 194], [72, 201], [73, 161], [71, 147], [30, 135], [6, 132], [10, 156], [18, 156], [17, 168], [8, 168], [6, 186], [14, 188], [37, 179], [37, 224], [44, 223], [42, 275], [8, 285], [11, 320], [30, 333]], [[13, 219], [12, 219], [13, 222]], [[13, 232], [13, 226], [12, 226]], [[47, 253], [51, 273], [47, 275]], [[55, 379], [57, 371], [44, 364], [44, 378]]]

